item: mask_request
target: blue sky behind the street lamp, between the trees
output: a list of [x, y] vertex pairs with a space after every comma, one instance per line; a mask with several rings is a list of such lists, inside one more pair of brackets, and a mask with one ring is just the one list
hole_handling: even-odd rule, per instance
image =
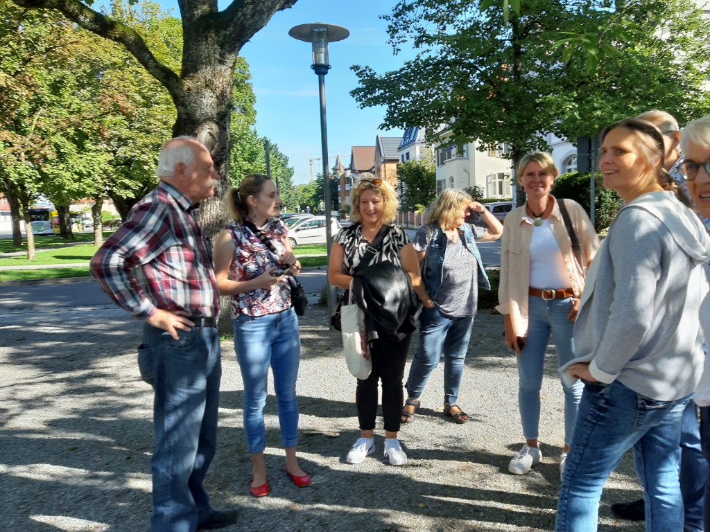
[[[177, 2], [163, 0], [165, 9]], [[349, 91], [357, 86], [351, 65], [368, 65], [376, 72], [395, 70], [411, 50], [393, 55], [387, 41], [387, 23], [378, 15], [390, 13], [396, 0], [298, 0], [291, 9], [276, 13], [265, 28], [241, 49], [249, 62], [256, 94], [256, 129], [288, 155], [295, 170], [294, 183], [310, 179], [305, 155], [321, 156], [318, 77], [310, 68], [311, 46], [288, 35], [293, 26], [323, 22], [344, 26], [346, 40], [329, 45], [332, 69], [325, 77], [329, 155], [340, 153], [349, 165], [350, 147], [374, 145], [375, 135], [401, 136], [401, 130], [379, 131], [383, 108], [359, 109]], [[224, 9], [226, 2], [220, 3]], [[330, 160], [329, 167], [335, 160]], [[322, 171], [322, 162], [313, 162], [313, 172]]]

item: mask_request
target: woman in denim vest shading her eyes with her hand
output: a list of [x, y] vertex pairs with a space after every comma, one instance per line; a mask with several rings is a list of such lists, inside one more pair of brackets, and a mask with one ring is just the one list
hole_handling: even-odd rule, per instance
[[[482, 214], [488, 230], [466, 223], [469, 211]], [[478, 306], [478, 289], [491, 289], [476, 240], [497, 240], [503, 226], [486, 207], [463, 190], [446, 189], [429, 206], [427, 225], [414, 238], [427, 295], [420, 316], [419, 347], [410, 367], [406, 388], [409, 397], [402, 422], [411, 423], [420, 407], [427, 379], [444, 353], [444, 415], [457, 423], [469, 416], [459, 408], [459, 384], [466, 349]]]

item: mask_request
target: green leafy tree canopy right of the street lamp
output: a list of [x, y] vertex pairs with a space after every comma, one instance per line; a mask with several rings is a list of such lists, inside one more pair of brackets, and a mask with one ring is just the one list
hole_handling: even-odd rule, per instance
[[[386, 106], [382, 128], [451, 132], [457, 145], [510, 142], [517, 161], [545, 135], [576, 140], [651, 108], [681, 121], [706, 112], [701, 90], [710, 23], [692, 0], [401, 0], [388, 22], [413, 60], [378, 74], [351, 70], [361, 107]], [[618, 7], [617, 7], [618, 6]], [[615, 11], [616, 9], [616, 11]]]

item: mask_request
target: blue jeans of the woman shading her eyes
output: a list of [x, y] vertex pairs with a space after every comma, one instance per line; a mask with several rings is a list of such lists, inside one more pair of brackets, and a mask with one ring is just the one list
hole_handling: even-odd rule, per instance
[[407, 379], [407, 394], [419, 399], [432, 371], [444, 353], [444, 403], [459, 399], [464, 375], [466, 350], [469, 348], [474, 317], [447, 318], [435, 306], [422, 309], [419, 319], [419, 346]]

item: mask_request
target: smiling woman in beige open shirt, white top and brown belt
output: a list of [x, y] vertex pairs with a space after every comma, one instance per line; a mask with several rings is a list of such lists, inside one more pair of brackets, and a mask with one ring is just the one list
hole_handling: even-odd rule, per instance
[[[574, 358], [574, 318], [584, 275], [599, 248], [599, 238], [584, 209], [575, 201], [564, 200], [580, 244], [575, 257], [559, 201], [550, 194], [559, 173], [550, 155], [528, 153], [515, 170], [528, 201], [510, 211], [503, 225], [500, 304], [496, 309], [506, 318], [506, 347], [518, 355], [518, 408], [525, 438], [525, 445], [510, 460], [508, 470], [524, 475], [542, 459], [537, 443], [540, 387], [550, 333], [555, 338], [557, 366], [561, 367]], [[583, 386], [581, 382], [572, 386], [562, 382], [562, 389], [564, 447], [560, 472], [567, 458]]]

